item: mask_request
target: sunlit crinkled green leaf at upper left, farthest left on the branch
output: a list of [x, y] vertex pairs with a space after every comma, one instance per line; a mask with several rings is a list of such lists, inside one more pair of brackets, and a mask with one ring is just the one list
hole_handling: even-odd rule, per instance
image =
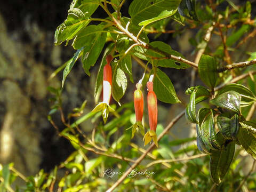
[[61, 44], [73, 39], [79, 30], [90, 23], [89, 19], [98, 6], [98, 1], [74, 0], [68, 10], [67, 19], [55, 31], [54, 43]]

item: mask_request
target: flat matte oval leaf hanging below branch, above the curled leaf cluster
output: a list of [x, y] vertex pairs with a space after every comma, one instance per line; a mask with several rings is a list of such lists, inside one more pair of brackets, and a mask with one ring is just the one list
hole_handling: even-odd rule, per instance
[[212, 89], [218, 78], [215, 59], [209, 55], [202, 55], [198, 63], [198, 73], [202, 81]]

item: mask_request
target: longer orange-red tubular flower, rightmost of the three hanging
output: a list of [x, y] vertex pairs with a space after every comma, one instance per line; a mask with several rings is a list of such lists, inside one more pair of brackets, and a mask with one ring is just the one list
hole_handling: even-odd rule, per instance
[[156, 126], [157, 126], [157, 99], [153, 91], [153, 82], [147, 82], [148, 87], [148, 118], [150, 130], [145, 134], [143, 140], [147, 145], [153, 139], [155, 145], [158, 147]]

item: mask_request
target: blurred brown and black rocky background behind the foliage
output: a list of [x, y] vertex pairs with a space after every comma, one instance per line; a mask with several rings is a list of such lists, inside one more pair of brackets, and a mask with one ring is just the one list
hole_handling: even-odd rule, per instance
[[[53, 169], [54, 165], [64, 161], [73, 150], [69, 141], [58, 137], [47, 121], [51, 106], [48, 101], [51, 94], [47, 91], [47, 86], [60, 87], [62, 73], [51, 80], [49, 77], [74, 54], [70, 43], [68, 46], [53, 44], [54, 31], [66, 19], [70, 2], [1, 2], [0, 163], [14, 162], [15, 167], [26, 176], [37, 173], [39, 169]], [[127, 5], [130, 2], [126, 1], [123, 15], [127, 15]], [[97, 14], [99, 17], [104, 16], [100, 9]], [[195, 55], [191, 54], [194, 47], [189, 44], [189, 38], [193, 38], [195, 33], [196, 30], [187, 30], [182, 36], [175, 38], [170, 34], [163, 34], [158, 40], [169, 43], [187, 59], [194, 60]], [[219, 41], [220, 39], [214, 39], [213, 42], [218, 44]], [[81, 106], [84, 100], [88, 101], [85, 113], [94, 107], [93, 90], [98, 66], [95, 65], [91, 70], [92, 76], [89, 78], [79, 64], [80, 61], [69, 74], [62, 92], [63, 113], [66, 116], [74, 107]], [[137, 65], [133, 65], [133, 70], [142, 71]], [[184, 93], [191, 83], [190, 68], [165, 71], [169, 74], [182, 103], [171, 106], [159, 102], [159, 121], [163, 125], [185, 108], [188, 97]], [[141, 73], [134, 74], [134, 79], [140, 76]], [[133, 90], [134, 85], [130, 83], [128, 93]], [[132, 101], [132, 94], [126, 94], [122, 101]], [[64, 128], [59, 114], [54, 115], [53, 119], [59, 127]], [[84, 130], [92, 130], [92, 126], [88, 122], [82, 124]], [[190, 126], [182, 119], [170, 133], [171, 137], [189, 137], [189, 134], [194, 134], [190, 133]]]

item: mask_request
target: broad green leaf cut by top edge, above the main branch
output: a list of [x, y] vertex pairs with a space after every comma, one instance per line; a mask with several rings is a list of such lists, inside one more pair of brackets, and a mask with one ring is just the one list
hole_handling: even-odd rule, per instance
[[135, 24], [158, 17], [162, 11], [176, 10], [180, 0], [134, 0], [129, 7], [129, 14]]

